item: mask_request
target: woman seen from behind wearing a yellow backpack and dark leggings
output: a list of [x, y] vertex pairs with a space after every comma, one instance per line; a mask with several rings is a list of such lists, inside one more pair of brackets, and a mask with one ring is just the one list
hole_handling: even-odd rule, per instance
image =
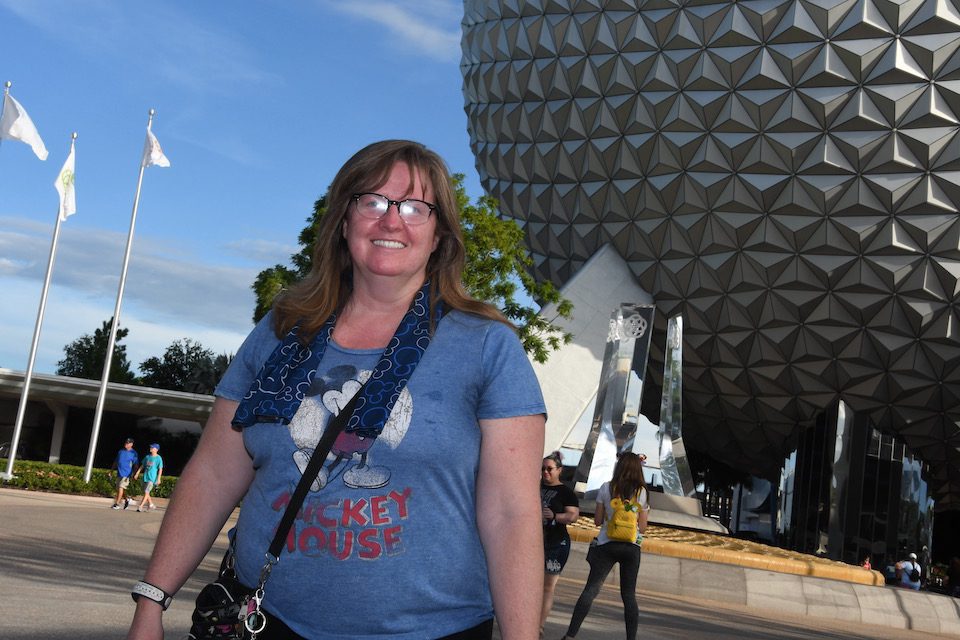
[[[619, 503], [631, 503], [639, 506], [636, 511], [636, 532], [631, 541], [611, 540], [608, 527], [604, 526], [620, 510]], [[650, 503], [647, 497], [647, 484], [643, 479], [643, 464], [635, 453], [620, 454], [613, 468], [613, 479], [600, 486], [597, 492], [597, 508], [593, 521], [600, 527], [600, 535], [594, 544], [590, 543], [587, 562], [590, 575], [583, 593], [573, 608], [573, 617], [567, 628], [565, 639], [574, 638], [590, 612], [594, 598], [600, 593], [600, 587], [607, 578], [613, 565], [620, 563], [620, 599], [623, 601], [623, 618], [627, 626], [627, 640], [636, 640], [637, 621], [640, 609], [637, 606], [637, 574], [640, 571], [640, 541], [647, 528]]]

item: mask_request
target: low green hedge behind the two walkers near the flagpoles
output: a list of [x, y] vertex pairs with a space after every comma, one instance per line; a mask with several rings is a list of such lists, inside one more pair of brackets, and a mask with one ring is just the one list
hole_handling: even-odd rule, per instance
[[[2, 468], [6, 469], [6, 460], [0, 458], [0, 464], [2, 464]], [[15, 477], [0, 484], [0, 486], [81, 496], [109, 498], [116, 495], [116, 483], [109, 469], [93, 469], [90, 474], [90, 482], [83, 481], [83, 471], [83, 467], [72, 464], [15, 460], [13, 463], [13, 475]], [[150, 495], [155, 498], [169, 498], [176, 484], [176, 477], [164, 475], [160, 486], [154, 487]], [[140, 495], [143, 493], [141, 487], [142, 484], [139, 480], [133, 481], [130, 483], [127, 494]]]

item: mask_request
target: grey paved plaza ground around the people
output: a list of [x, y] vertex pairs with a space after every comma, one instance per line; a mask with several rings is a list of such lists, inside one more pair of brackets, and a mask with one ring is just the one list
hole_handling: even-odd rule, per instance
[[[163, 509], [112, 511], [106, 498], [0, 489], [0, 639], [123, 638], [133, 613], [128, 593], [143, 573]], [[166, 637], [182, 638], [197, 590], [215, 575], [226, 546], [221, 535], [166, 615]], [[547, 640], [559, 640], [586, 578], [583, 549], [574, 549], [557, 587]], [[652, 560], [652, 557], [650, 558]], [[654, 567], [655, 563], [647, 563]], [[956, 638], [778, 614], [645, 589], [656, 579], [641, 569], [643, 640], [920, 640]], [[718, 587], [720, 588], [720, 587]], [[611, 582], [597, 598], [579, 640], [623, 638], [619, 593]]]

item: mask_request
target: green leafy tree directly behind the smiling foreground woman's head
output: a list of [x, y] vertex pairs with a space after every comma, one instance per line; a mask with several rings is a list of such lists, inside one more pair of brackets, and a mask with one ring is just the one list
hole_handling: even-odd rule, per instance
[[[512, 220], [497, 214], [497, 201], [489, 196], [470, 204], [463, 187], [463, 174], [453, 176], [453, 187], [460, 206], [460, 224], [466, 245], [466, 267], [463, 283], [472, 296], [494, 304], [517, 325], [524, 349], [537, 362], [546, 362], [551, 351], [570, 342], [571, 335], [554, 324], [558, 317], [569, 318], [573, 305], [560, 295], [550, 282], [537, 282], [530, 273], [533, 260], [523, 244], [523, 230]], [[274, 265], [257, 275], [252, 288], [256, 294], [253, 321], [259, 321], [270, 310], [274, 298], [285, 287], [310, 271], [313, 243], [320, 219], [327, 210], [324, 195], [313, 205], [307, 226], [300, 232], [300, 251], [290, 256], [292, 267]], [[518, 301], [518, 296], [555, 304], [557, 315], [540, 316], [531, 304]]]

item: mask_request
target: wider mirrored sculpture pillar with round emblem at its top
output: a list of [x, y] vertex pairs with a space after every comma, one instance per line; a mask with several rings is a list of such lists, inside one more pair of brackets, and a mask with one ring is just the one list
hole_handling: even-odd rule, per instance
[[[588, 498], [610, 479], [617, 453], [632, 446], [636, 435], [653, 315], [652, 305], [624, 303], [610, 317], [593, 423], [574, 476], [576, 490]], [[637, 403], [630, 410], [628, 389]]]

